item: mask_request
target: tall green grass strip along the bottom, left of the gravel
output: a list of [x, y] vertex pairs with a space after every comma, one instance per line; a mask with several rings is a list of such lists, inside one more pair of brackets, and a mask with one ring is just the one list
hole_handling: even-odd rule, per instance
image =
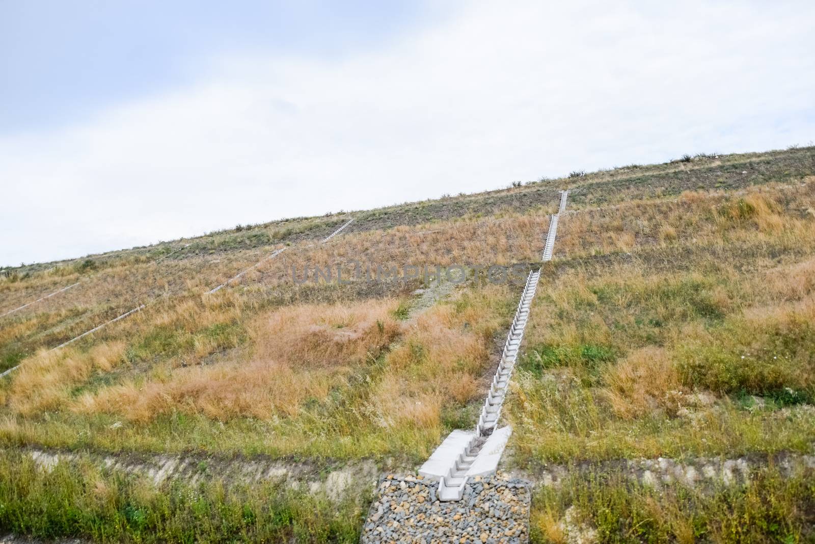
[[282, 484], [156, 488], [88, 460], [43, 471], [24, 453], [0, 458], [0, 529], [95, 542], [356, 542], [368, 498], [338, 504]]

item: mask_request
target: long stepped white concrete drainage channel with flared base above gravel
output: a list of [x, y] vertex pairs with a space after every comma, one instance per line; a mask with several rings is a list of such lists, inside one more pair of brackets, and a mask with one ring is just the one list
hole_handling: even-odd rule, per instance
[[[544, 261], [552, 260], [557, 236], [557, 219], [560, 213], [566, 210], [567, 197], [568, 191], [562, 191], [558, 212], [549, 222]], [[484, 400], [475, 430], [452, 431], [419, 469], [419, 474], [425, 478], [438, 479], [437, 496], [440, 501], [459, 501], [469, 478], [493, 475], [498, 468], [509, 435], [512, 434], [512, 427], [498, 428], [498, 419], [509, 390], [509, 378], [518, 358], [523, 330], [529, 321], [532, 299], [535, 298], [539, 280], [540, 268], [536, 272], [530, 272], [526, 277], [526, 285], [518, 302], [512, 326], [509, 328], [507, 341], [504, 343], [504, 352], [496, 375], [492, 378], [490, 391]]]

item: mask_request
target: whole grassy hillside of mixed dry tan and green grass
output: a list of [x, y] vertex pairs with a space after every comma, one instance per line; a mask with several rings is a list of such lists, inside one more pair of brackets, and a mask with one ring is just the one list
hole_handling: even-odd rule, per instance
[[[518, 289], [468, 285], [406, 321], [417, 285], [297, 287], [290, 267], [350, 256], [442, 266], [535, 261], [547, 214], [557, 205], [555, 189], [569, 186], [573, 211], [562, 218], [556, 260], [544, 269], [507, 410], [516, 429], [514, 462], [534, 470], [550, 460], [808, 451], [815, 440], [815, 203], [813, 184], [802, 179], [815, 174], [813, 153], [626, 167], [391, 206], [355, 215], [327, 245], [313, 243], [346, 215], [17, 270], [0, 283], [0, 313], [83, 281], [3, 318], [0, 366], [20, 360], [24, 366], [0, 384], [0, 440], [104, 451], [421, 460], [445, 433], [474, 421]], [[183, 243], [191, 245], [154, 262]], [[242, 285], [201, 296], [283, 245], [281, 259]], [[146, 311], [69, 349], [37, 352], [141, 302], [150, 303]], [[25, 479], [12, 476], [24, 461], [9, 463], [0, 493], [14, 497], [18, 510], [0, 512], [0, 524], [48, 533], [19, 520], [33, 515], [25, 505], [37, 493], [57, 493], [54, 484], [31, 483], [37, 477], [30, 471], [20, 472]], [[114, 478], [97, 477], [106, 485]], [[782, 493], [787, 484], [767, 478], [767, 493]], [[801, 478], [794, 484], [811, 485]], [[623, 483], [615, 485], [607, 493], [624, 491]], [[611, 501], [581, 486], [536, 499], [538, 537], [557, 540], [557, 520], [571, 504], [582, 505], [588, 519], [592, 501]], [[92, 490], [79, 482], [66, 489], [69, 501], [90, 500]], [[128, 489], [121, 494], [130, 497]], [[201, 493], [218, 499], [212, 489]], [[795, 493], [790, 508], [800, 506]], [[760, 504], [756, 497], [726, 500], [750, 511]], [[721, 515], [717, 500], [696, 501], [703, 520]], [[131, 534], [130, 525], [113, 521], [125, 515], [128, 501], [94, 523]], [[612, 515], [631, 517], [641, 508], [622, 498], [611, 503]], [[149, 504], [148, 511], [175, 515]], [[280, 530], [313, 521], [307, 532], [319, 540], [317, 526], [330, 523], [304, 512]], [[803, 522], [790, 512], [784, 527], [798, 529], [782, 536], [800, 536]], [[686, 524], [675, 525], [673, 533], [663, 524], [653, 534], [676, 537]], [[259, 527], [278, 534], [266, 522], [247, 530]], [[609, 529], [609, 539], [639, 534], [630, 529]], [[330, 530], [333, 537], [346, 531]]]

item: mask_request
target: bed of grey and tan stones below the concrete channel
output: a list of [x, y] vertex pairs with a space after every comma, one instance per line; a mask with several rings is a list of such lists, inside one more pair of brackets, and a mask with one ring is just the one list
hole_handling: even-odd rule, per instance
[[438, 501], [437, 486], [416, 475], [387, 475], [359, 542], [529, 542], [529, 482], [501, 472], [477, 477], [453, 502]]

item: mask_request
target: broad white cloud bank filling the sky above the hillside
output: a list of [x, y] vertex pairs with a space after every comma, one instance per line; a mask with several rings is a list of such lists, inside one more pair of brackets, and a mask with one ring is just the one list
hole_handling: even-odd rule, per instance
[[[0, 139], [0, 263], [813, 139], [811, 2], [473, 5]], [[55, 90], [57, 92], [59, 90]]]

